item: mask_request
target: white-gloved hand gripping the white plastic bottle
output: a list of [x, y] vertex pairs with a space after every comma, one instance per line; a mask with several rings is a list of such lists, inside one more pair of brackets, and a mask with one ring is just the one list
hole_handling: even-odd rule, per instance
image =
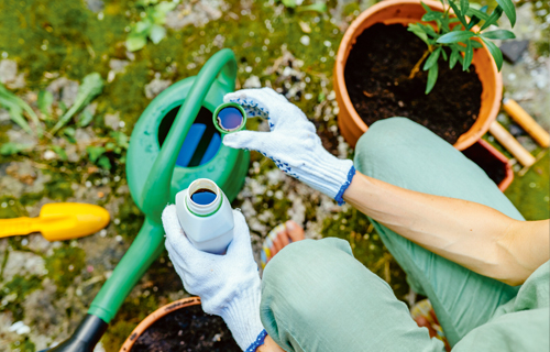
[[233, 210], [233, 240], [224, 255], [193, 246], [179, 224], [176, 206], [164, 209], [163, 226], [166, 250], [185, 289], [200, 296], [205, 312], [223, 318], [244, 351], [260, 338], [263, 342], [265, 331], [260, 320], [261, 280], [249, 227], [240, 211]]

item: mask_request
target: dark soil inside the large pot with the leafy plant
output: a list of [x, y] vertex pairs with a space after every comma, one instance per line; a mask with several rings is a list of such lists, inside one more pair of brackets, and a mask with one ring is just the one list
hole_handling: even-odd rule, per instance
[[374, 24], [358, 36], [350, 52], [345, 86], [367, 125], [405, 117], [454, 144], [477, 119], [482, 84], [473, 65], [463, 72], [458, 63], [451, 70], [440, 57], [436, 86], [425, 95], [428, 72], [421, 69], [424, 63], [414, 78], [408, 77], [426, 50], [426, 43], [402, 24]]

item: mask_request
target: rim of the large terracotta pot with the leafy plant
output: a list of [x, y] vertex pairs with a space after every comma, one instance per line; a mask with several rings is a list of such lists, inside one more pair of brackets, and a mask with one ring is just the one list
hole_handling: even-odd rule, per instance
[[[369, 127], [366, 123], [361, 119], [359, 113], [356, 112], [355, 108], [353, 107], [353, 103], [351, 102], [350, 95], [348, 92], [348, 87], [345, 85], [345, 79], [344, 79], [344, 68], [345, 68], [345, 63], [346, 63], [346, 53], [350, 51], [350, 47], [352, 47], [352, 44], [356, 36], [360, 34], [355, 35], [355, 32], [365, 22], [370, 16], [375, 15], [377, 12], [386, 9], [386, 8], [392, 8], [396, 6], [403, 6], [403, 4], [418, 4], [421, 6], [420, 2], [424, 2], [428, 7], [442, 11], [443, 6], [439, 1], [435, 0], [384, 0], [381, 1], [365, 11], [363, 11], [348, 28], [345, 31], [342, 41], [340, 42], [340, 46], [338, 48], [337, 53], [337, 59], [334, 64], [334, 79], [336, 79], [336, 87], [340, 90], [340, 99], [343, 103], [344, 107], [340, 107], [340, 109], [345, 109], [346, 112], [349, 113], [351, 120], [362, 130], [366, 131]], [[398, 23], [398, 22], [396, 22]], [[405, 23], [405, 21], [403, 21]], [[474, 26], [472, 30], [476, 30], [477, 26]], [[484, 43], [481, 43], [483, 45], [484, 51], [488, 52], [487, 47], [485, 46]], [[475, 59], [474, 63], [475, 65]], [[474, 144], [477, 140], [480, 140], [483, 134], [485, 134], [488, 131], [488, 128], [491, 123], [496, 119], [496, 116], [498, 111], [501, 110], [501, 100], [502, 100], [502, 92], [503, 92], [503, 78], [502, 74], [498, 72], [496, 64], [494, 59], [491, 59], [492, 69], [495, 72], [495, 99], [491, 105], [491, 110], [487, 114], [487, 119], [483, 121], [483, 124], [477, 127], [476, 130], [473, 130], [470, 128], [465, 133], [463, 133], [457, 143], [454, 143], [454, 147], [462, 151], [465, 150], [466, 147], [471, 146]], [[482, 87], [483, 87], [483, 81], [482, 81]], [[483, 89], [486, 89], [486, 87], [483, 87]], [[480, 117], [477, 117], [479, 119]], [[354, 144], [354, 143], [352, 143]]]

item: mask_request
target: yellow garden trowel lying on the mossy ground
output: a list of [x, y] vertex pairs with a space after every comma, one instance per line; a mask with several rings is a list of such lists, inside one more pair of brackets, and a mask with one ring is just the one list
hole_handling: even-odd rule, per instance
[[109, 212], [99, 206], [79, 202], [48, 204], [37, 218], [0, 219], [0, 238], [42, 232], [53, 241], [78, 239], [98, 232], [109, 223]]

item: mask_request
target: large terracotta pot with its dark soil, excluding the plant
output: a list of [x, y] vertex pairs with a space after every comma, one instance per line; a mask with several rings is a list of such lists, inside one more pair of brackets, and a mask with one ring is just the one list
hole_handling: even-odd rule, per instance
[[[440, 2], [422, 2], [443, 11]], [[334, 66], [334, 90], [338, 124], [351, 146], [375, 121], [406, 117], [464, 150], [496, 119], [503, 84], [485, 45], [473, 50], [469, 72], [460, 65], [439, 65], [437, 84], [425, 94], [428, 72], [418, 69], [418, 63], [424, 65], [427, 45], [407, 30], [410, 23], [428, 23], [421, 21], [425, 14], [418, 0], [386, 0], [369, 8], [345, 32]]]

